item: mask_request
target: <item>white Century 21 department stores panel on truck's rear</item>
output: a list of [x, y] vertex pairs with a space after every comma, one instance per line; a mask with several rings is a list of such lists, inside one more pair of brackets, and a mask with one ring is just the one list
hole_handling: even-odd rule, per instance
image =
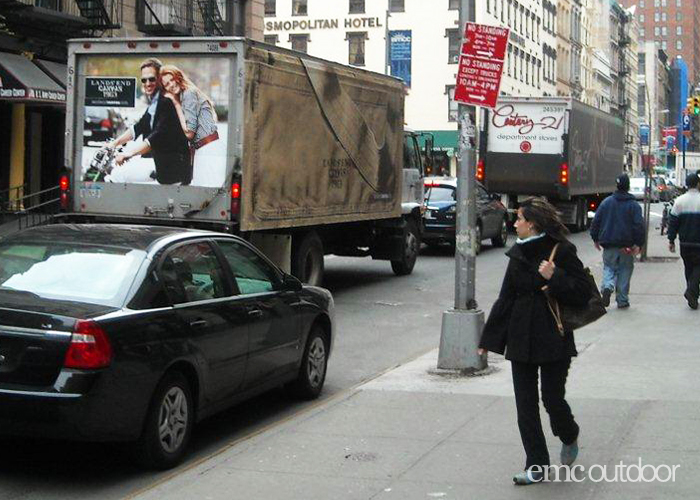
[[561, 154], [566, 111], [564, 102], [499, 103], [489, 114], [488, 151]]

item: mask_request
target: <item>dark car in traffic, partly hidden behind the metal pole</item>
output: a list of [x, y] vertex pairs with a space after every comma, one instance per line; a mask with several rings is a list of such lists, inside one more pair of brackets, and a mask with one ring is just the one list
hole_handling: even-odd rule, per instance
[[[423, 216], [423, 242], [428, 246], [441, 243], [455, 244], [457, 223], [457, 179], [454, 177], [426, 177], [425, 205]], [[481, 251], [481, 242], [487, 238], [496, 247], [508, 241], [508, 212], [496, 196], [476, 183], [476, 253]]]

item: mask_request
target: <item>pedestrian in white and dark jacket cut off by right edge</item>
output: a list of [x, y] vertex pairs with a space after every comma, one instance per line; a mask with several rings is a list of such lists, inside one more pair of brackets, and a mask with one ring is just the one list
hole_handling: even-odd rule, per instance
[[680, 240], [685, 267], [685, 299], [691, 309], [698, 308], [700, 294], [700, 192], [698, 174], [685, 179], [688, 192], [676, 199], [668, 221], [668, 249], [676, 252], [676, 235]]

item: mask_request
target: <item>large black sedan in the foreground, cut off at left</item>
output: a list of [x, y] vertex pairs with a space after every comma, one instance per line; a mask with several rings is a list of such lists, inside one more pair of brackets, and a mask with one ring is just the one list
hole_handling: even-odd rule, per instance
[[330, 292], [234, 236], [25, 230], [0, 241], [0, 434], [134, 441], [172, 467], [214, 412], [280, 385], [317, 397], [333, 317]]

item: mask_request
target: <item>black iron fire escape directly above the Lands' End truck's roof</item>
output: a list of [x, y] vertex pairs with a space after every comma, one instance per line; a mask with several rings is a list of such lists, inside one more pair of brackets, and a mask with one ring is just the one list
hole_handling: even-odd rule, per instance
[[153, 36], [231, 34], [231, 2], [225, 0], [137, 0], [140, 31]]

